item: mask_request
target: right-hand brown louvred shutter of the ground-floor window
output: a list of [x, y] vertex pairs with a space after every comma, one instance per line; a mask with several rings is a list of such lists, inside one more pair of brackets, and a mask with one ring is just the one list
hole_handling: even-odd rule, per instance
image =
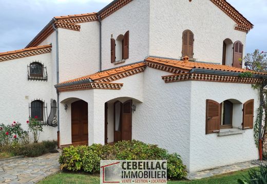
[[243, 108], [243, 129], [253, 129], [254, 99], [246, 101]]

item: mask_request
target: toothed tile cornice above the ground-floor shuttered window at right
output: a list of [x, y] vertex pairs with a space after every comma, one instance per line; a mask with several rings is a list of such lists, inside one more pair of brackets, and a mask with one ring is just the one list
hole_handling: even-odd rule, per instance
[[239, 76], [225, 76], [215, 74], [202, 74], [202, 73], [182, 73], [176, 75], [162, 76], [165, 83], [173, 83], [187, 80], [197, 81], [212, 81], [219, 83], [242, 83], [242, 84], [260, 84], [262, 79], [260, 78], [247, 78]]

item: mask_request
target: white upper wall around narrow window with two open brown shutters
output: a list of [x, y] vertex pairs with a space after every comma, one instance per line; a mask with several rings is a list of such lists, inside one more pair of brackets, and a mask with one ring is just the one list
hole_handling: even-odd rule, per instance
[[[129, 58], [125, 63], [110, 63], [110, 38], [129, 31]], [[102, 70], [140, 62], [148, 56], [149, 1], [135, 0], [102, 21]], [[116, 50], [117, 52], [117, 50]]]

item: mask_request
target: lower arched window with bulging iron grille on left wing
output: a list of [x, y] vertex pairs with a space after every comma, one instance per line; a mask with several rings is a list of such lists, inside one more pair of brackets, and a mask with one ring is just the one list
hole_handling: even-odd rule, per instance
[[45, 100], [36, 98], [36, 99], [33, 99], [31, 103], [29, 103], [29, 117], [35, 118], [36, 114], [39, 114], [39, 116], [37, 116], [36, 119], [41, 122], [41, 125], [48, 126], [47, 103], [45, 103]]

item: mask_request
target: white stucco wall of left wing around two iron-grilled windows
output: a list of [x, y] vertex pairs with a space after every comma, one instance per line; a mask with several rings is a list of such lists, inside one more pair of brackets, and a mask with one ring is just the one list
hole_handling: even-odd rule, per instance
[[[47, 67], [48, 81], [28, 80], [27, 66], [39, 60]], [[29, 118], [29, 104], [36, 98], [43, 99], [50, 113], [50, 99], [55, 98], [52, 78], [52, 54], [40, 54], [30, 57], [0, 62], [0, 119], [8, 125], [19, 121], [22, 128], [28, 130], [26, 120]], [[56, 139], [56, 128], [44, 127], [40, 140]]]

